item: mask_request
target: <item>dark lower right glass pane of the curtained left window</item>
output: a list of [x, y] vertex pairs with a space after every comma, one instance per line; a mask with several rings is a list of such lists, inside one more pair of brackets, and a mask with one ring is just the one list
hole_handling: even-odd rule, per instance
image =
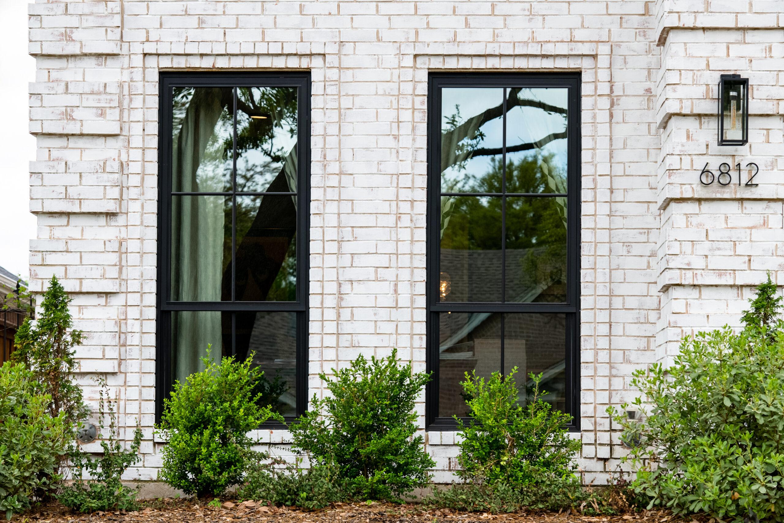
[[238, 312], [237, 359], [253, 354], [264, 375], [256, 383], [260, 401], [284, 416], [296, 415], [296, 313]]

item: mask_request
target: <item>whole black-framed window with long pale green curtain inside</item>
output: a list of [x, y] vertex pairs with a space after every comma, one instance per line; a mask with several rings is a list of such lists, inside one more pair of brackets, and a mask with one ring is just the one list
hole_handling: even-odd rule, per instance
[[308, 73], [160, 77], [157, 416], [212, 355], [264, 371], [261, 401], [307, 405]]

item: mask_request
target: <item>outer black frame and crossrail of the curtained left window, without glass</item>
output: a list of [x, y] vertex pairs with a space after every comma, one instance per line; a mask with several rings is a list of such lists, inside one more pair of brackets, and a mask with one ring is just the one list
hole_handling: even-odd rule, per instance
[[[171, 313], [174, 311], [254, 311], [296, 313], [296, 416], [307, 410], [308, 294], [310, 241], [310, 72], [309, 71], [170, 71], [159, 74], [158, 96], [158, 278], [155, 329], [155, 421], [160, 423], [164, 398], [172, 391]], [[297, 216], [296, 300], [176, 302], [169, 300], [172, 198], [172, 88], [174, 87], [296, 87], [297, 90]], [[234, 118], [236, 121], [236, 117]], [[235, 145], [236, 147], [236, 145]], [[176, 192], [176, 194], [186, 194]], [[197, 193], [194, 193], [197, 194]], [[218, 194], [218, 193], [198, 193]], [[224, 194], [224, 193], [220, 193]], [[234, 194], [232, 191], [231, 194]], [[246, 194], [246, 193], [242, 193]], [[282, 193], [257, 193], [282, 194]], [[236, 212], [236, 211], [234, 211]], [[234, 350], [234, 347], [233, 347]], [[295, 416], [284, 416], [287, 423]], [[285, 429], [277, 421], [264, 428]]]

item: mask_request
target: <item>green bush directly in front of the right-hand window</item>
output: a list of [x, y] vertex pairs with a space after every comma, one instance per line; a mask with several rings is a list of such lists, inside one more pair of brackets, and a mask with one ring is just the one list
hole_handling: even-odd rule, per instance
[[466, 372], [463, 397], [473, 419], [465, 424], [456, 418], [461, 436], [457, 474], [490, 485], [521, 487], [553, 481], [579, 485], [572, 470], [580, 441], [563, 428], [571, 416], [543, 401], [547, 393], [539, 390], [541, 375], [531, 374], [532, 399], [520, 405], [516, 373], [517, 367], [509, 376], [493, 372], [485, 381]]

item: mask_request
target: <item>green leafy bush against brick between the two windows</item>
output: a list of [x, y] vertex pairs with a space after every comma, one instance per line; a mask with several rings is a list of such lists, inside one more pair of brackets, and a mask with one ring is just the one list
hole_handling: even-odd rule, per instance
[[430, 380], [397, 364], [397, 350], [387, 358], [360, 356], [335, 379], [321, 373], [330, 396], [314, 396], [309, 412], [290, 427], [295, 449], [311, 463], [338, 468], [354, 495], [363, 499], [398, 500], [426, 485], [434, 461], [424, 450], [414, 405]]

